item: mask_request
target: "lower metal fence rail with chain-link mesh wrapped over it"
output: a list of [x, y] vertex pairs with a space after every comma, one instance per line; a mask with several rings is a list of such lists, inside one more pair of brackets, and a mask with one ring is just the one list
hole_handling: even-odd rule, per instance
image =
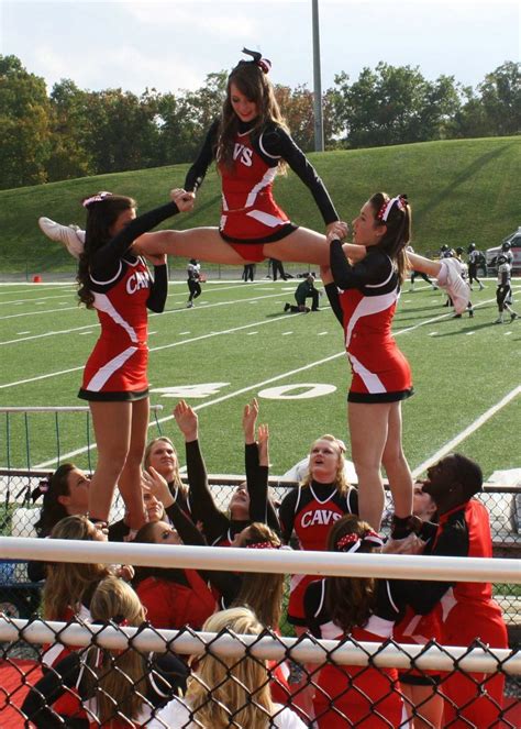
[[196, 632], [192, 630], [157, 630], [153, 628], [120, 628], [92, 623], [66, 623], [43, 620], [18, 620], [0, 617], [0, 640], [14, 642], [23, 637], [29, 643], [52, 643], [59, 634], [66, 645], [87, 647], [96, 637], [96, 644], [124, 650], [131, 645], [141, 651], [197, 655], [207, 652], [222, 656], [241, 656], [246, 653], [259, 660], [291, 658], [306, 663], [322, 663], [334, 651], [335, 663], [351, 665], [377, 665], [379, 667], [407, 669], [414, 663], [420, 670], [453, 671], [457, 662], [464, 671], [495, 673], [498, 664], [509, 674], [521, 674], [521, 652], [508, 649], [479, 647], [452, 647], [436, 643], [429, 645], [398, 645], [353, 641], [352, 639], [318, 640], [311, 636], [282, 638], [270, 631], [263, 636], [240, 636]]

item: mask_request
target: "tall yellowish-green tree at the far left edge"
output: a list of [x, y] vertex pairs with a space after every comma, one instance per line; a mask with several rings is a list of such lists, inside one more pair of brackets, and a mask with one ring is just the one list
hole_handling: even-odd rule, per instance
[[0, 187], [46, 180], [51, 108], [43, 78], [16, 56], [0, 56]]

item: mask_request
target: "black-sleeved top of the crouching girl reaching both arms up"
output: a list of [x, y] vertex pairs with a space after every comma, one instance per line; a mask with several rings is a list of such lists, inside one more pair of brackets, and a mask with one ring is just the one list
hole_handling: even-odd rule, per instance
[[230, 546], [235, 534], [253, 521], [267, 523], [275, 531], [280, 530], [277, 512], [268, 498], [268, 468], [258, 463], [256, 443], [246, 444], [246, 488], [250, 494], [250, 519], [231, 519], [215, 505], [208, 483], [208, 473], [199, 441], [186, 443], [187, 475], [191, 517], [202, 523], [202, 533], [212, 546]]

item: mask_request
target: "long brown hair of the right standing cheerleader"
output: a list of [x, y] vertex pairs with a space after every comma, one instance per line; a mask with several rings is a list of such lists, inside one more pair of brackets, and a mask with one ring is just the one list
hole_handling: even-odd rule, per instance
[[411, 240], [412, 230], [411, 207], [407, 201], [407, 196], [400, 196], [400, 201], [395, 202], [391, 207], [387, 220], [380, 221], [377, 219], [377, 214], [389, 200], [390, 197], [387, 192], [375, 192], [369, 198], [369, 205], [375, 213], [375, 224], [387, 228], [378, 245], [396, 263], [400, 283], [403, 283], [408, 269], [406, 246]]

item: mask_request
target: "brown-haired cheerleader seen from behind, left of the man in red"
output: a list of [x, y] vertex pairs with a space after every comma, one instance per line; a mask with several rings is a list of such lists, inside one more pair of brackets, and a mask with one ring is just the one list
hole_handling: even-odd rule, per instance
[[[373, 552], [383, 545], [370, 526], [346, 516], [330, 532], [334, 552]], [[317, 638], [384, 642], [392, 637], [403, 609], [400, 583], [372, 577], [328, 577], [311, 583], [304, 598], [306, 619]], [[319, 729], [408, 727], [396, 669], [370, 665], [321, 667], [314, 678]]]

